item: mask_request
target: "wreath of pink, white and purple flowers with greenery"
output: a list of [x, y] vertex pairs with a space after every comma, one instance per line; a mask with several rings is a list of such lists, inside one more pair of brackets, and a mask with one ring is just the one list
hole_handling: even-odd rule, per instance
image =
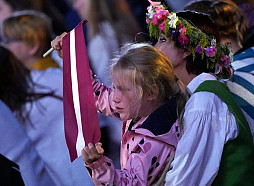
[[178, 17], [175, 12], [169, 12], [161, 2], [150, 2], [147, 7], [146, 22], [150, 37], [156, 39], [164, 33], [171, 37], [175, 45], [192, 52], [193, 60], [196, 54], [207, 59], [207, 68], [214, 68], [219, 78], [228, 79], [233, 74], [233, 53], [229, 44], [218, 44], [212, 36], [206, 35], [187, 20]]

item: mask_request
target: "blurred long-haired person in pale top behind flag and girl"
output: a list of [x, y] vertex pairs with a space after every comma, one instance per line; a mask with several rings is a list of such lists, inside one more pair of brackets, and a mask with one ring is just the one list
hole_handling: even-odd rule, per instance
[[[132, 42], [141, 31], [126, 0], [71, 0], [81, 19], [87, 19], [87, 52], [90, 67], [97, 78], [111, 86], [110, 59], [125, 42]], [[98, 55], [98, 51], [100, 54]], [[105, 154], [119, 168], [121, 121], [98, 113]], [[114, 133], [114, 135], [112, 135]], [[111, 146], [110, 144], [115, 143]], [[117, 165], [118, 163], [118, 165]]]

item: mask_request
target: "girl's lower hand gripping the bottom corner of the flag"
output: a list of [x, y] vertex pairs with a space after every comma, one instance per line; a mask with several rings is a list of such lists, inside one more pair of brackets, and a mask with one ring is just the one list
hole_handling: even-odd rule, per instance
[[102, 156], [104, 149], [101, 146], [102, 143], [98, 142], [95, 144], [95, 146], [94, 144], [89, 143], [88, 146], [83, 148], [81, 153], [86, 165], [90, 165]]

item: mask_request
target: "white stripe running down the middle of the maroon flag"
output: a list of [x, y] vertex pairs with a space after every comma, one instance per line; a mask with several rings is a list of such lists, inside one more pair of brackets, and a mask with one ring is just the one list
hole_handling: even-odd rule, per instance
[[71, 82], [72, 82], [72, 98], [74, 110], [78, 125], [78, 137], [76, 143], [76, 150], [78, 157], [81, 155], [81, 150], [85, 146], [85, 140], [82, 132], [82, 121], [80, 114], [79, 90], [78, 90], [78, 76], [76, 67], [76, 47], [75, 47], [75, 31], [70, 32], [70, 59], [71, 59]]

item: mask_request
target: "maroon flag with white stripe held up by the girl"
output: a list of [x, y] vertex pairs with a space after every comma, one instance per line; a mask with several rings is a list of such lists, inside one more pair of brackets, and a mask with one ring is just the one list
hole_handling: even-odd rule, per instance
[[83, 33], [86, 22], [80, 22], [62, 40], [64, 129], [71, 161], [101, 136]]

